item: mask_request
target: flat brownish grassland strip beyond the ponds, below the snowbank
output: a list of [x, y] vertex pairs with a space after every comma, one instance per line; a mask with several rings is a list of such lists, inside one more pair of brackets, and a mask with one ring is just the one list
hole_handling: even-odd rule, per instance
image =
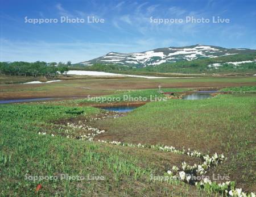
[[156, 89], [159, 85], [163, 88], [255, 86], [256, 78], [88, 78], [41, 84], [2, 84], [0, 99], [99, 96], [127, 90]]

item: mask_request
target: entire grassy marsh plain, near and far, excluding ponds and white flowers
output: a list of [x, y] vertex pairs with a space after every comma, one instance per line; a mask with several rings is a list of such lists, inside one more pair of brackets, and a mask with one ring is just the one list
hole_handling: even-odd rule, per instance
[[[35, 80], [32, 80], [35, 81]], [[255, 91], [255, 77], [226, 78], [79, 78], [42, 84], [2, 84], [0, 99], [85, 97], [148, 97], [164, 91], [224, 88]], [[242, 87], [241, 87], [242, 86]], [[135, 90], [135, 91], [134, 91]], [[123, 101], [122, 101], [123, 102]], [[0, 191], [2, 196], [217, 196], [183, 182], [152, 182], [181, 162], [195, 158], [97, 141], [68, 139], [60, 124], [79, 122], [105, 129], [96, 140], [164, 144], [202, 153], [224, 153], [224, 164], [208, 175], [229, 175], [245, 191], [256, 191], [255, 94], [217, 95], [205, 100], [150, 102], [118, 118], [89, 121], [104, 111], [82, 106], [84, 99], [47, 104], [0, 105]], [[73, 105], [79, 106], [73, 106]], [[69, 106], [70, 105], [70, 106]], [[47, 135], [38, 135], [46, 132]], [[81, 131], [77, 131], [77, 135]], [[51, 134], [54, 136], [52, 137]], [[27, 175], [103, 175], [105, 181], [35, 181]]]

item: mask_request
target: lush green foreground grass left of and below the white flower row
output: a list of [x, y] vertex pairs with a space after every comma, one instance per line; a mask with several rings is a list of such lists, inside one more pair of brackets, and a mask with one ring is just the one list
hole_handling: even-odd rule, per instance
[[[95, 115], [97, 108], [25, 104], [0, 106], [1, 196], [208, 196], [180, 182], [152, 182], [150, 174], [166, 171], [157, 165], [173, 156], [135, 148], [38, 135], [55, 132], [53, 120]], [[155, 161], [155, 162], [152, 162]], [[171, 166], [169, 166], [171, 167]], [[100, 175], [105, 181], [29, 181], [26, 176]]]

